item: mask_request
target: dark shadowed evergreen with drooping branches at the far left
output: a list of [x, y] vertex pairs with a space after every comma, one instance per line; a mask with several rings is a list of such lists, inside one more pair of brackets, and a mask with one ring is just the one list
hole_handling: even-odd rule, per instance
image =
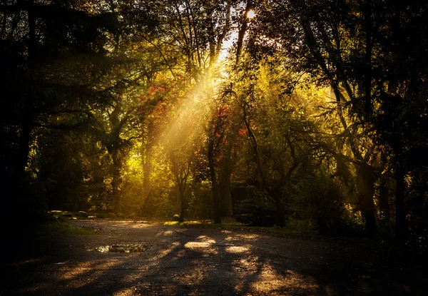
[[111, 66], [103, 40], [116, 19], [84, 3], [36, 0], [3, 2], [0, 19], [1, 180], [19, 202], [33, 182], [36, 138], [87, 125], [88, 106], [105, 103], [93, 86]]

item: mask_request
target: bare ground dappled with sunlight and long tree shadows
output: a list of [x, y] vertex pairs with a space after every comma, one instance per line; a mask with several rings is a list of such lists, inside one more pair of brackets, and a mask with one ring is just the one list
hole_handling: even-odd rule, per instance
[[[2, 254], [0, 295], [426, 295], [428, 285], [423, 260], [367, 240], [69, 223], [96, 234], [19, 240], [19, 256]], [[97, 251], [115, 244], [143, 252]]]

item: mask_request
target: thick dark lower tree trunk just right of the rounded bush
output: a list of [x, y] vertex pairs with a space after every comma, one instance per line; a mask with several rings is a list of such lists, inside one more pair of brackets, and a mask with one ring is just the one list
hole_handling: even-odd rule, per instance
[[362, 218], [365, 220], [367, 235], [374, 238], [377, 235], [376, 216], [374, 212], [374, 172], [369, 165], [357, 165], [357, 192]]

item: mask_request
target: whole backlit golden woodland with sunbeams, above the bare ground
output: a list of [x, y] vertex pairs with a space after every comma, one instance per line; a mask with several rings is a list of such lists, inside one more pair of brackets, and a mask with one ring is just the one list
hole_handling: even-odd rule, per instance
[[9, 222], [86, 211], [427, 247], [424, 1], [4, 0], [0, 65]]

